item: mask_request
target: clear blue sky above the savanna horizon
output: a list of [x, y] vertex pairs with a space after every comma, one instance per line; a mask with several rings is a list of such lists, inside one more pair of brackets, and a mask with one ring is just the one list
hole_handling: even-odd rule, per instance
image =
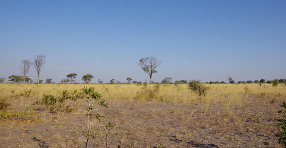
[[0, 0], [0, 77], [38, 54], [44, 81], [149, 81], [147, 56], [156, 82], [285, 78], [286, 0]]

